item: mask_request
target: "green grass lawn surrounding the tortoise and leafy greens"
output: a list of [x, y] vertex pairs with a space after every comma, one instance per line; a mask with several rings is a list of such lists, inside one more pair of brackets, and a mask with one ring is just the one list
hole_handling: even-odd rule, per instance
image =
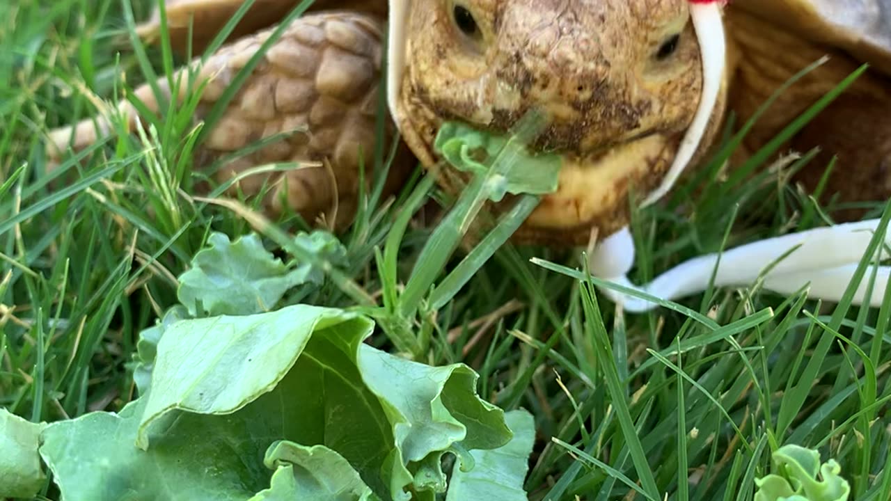
[[[210, 231], [259, 227], [269, 246], [307, 255], [286, 233], [301, 227], [295, 218], [266, 225], [188, 195], [198, 180], [192, 148], [212, 125], [190, 122], [193, 101], [168, 107], [145, 136], [109, 138], [88, 160], [45, 172], [49, 129], [175, 67], [166, 47], [129, 45], [127, 27], [150, 9], [135, 0], [0, 4], [0, 405], [34, 422], [133, 398], [137, 335], [176, 301], [176, 276]], [[745, 166], [754, 181], [723, 180], [722, 154], [735, 142], [726, 135], [727, 149], [698, 176], [635, 213], [635, 282], [703, 252], [817, 226], [842, 208], [817, 207], [789, 183], [813, 152], [763, 168], [779, 142]], [[377, 152], [378, 172], [388, 149]], [[413, 267], [440, 275], [416, 265], [435, 226], [410, 225], [413, 210], [398, 209], [420, 206], [430, 187], [414, 178], [391, 204], [372, 193], [341, 235], [348, 267], [302, 300], [372, 308], [383, 291], [395, 310], [396, 284]], [[454, 256], [449, 269], [459, 263]], [[836, 459], [852, 499], [891, 498], [891, 299], [869, 309], [849, 297], [823, 305], [710, 290], [627, 316], [576, 268], [568, 252], [505, 245], [472, 276], [440, 282], [454, 297], [435, 296], [435, 308], [413, 285], [421, 328], [398, 331], [425, 362], [464, 362], [480, 374], [481, 396], [535, 415], [529, 499], [751, 499], [784, 444]], [[870, 279], [870, 267], [860, 272]], [[395, 350], [400, 338], [388, 333], [374, 342]]]

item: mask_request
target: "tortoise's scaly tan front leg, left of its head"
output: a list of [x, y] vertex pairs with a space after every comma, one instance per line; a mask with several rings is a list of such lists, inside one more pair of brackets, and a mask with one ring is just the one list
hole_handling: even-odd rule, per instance
[[[372, 177], [381, 24], [377, 18], [344, 12], [308, 15], [292, 23], [208, 130], [195, 153], [194, 167], [207, 168], [257, 141], [282, 135], [257, 151], [227, 161], [214, 174], [215, 181], [223, 183], [248, 168], [275, 162], [313, 162], [321, 166], [246, 177], [232, 189], [256, 195], [268, 183], [272, 189], [263, 200], [267, 214], [278, 215], [288, 206], [307, 221], [323, 215], [330, 220], [331, 210], [337, 207], [335, 226], [346, 225], [356, 210], [360, 165], [365, 166], [366, 180], [370, 182]], [[271, 33], [225, 45], [199, 69], [198, 81], [206, 79], [208, 85], [200, 95], [196, 120], [207, 116]], [[159, 86], [169, 95], [167, 81], [161, 78]], [[187, 81], [186, 77], [182, 81]], [[176, 96], [180, 103], [187, 92], [184, 84], [182, 87]], [[135, 94], [151, 111], [158, 111], [150, 86], [138, 88]], [[135, 108], [129, 103], [121, 103], [120, 108], [130, 127], [135, 127], [139, 119]], [[107, 134], [107, 122], [99, 122], [99, 133]], [[282, 134], [300, 129], [305, 132]], [[388, 123], [387, 130], [389, 140], [395, 127]], [[51, 159], [61, 160], [68, 144], [75, 151], [94, 144], [96, 133], [93, 119], [53, 131], [47, 145]], [[391, 171], [388, 193], [403, 179], [405, 169], [400, 167], [394, 165]]]

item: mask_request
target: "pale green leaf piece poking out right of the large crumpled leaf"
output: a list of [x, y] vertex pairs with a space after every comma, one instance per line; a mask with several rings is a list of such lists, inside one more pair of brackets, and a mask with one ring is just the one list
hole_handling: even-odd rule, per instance
[[535, 420], [524, 410], [511, 411], [504, 417], [513, 431], [513, 439], [500, 448], [471, 451], [475, 466], [469, 472], [454, 470], [446, 501], [527, 500], [523, 480], [535, 442]]

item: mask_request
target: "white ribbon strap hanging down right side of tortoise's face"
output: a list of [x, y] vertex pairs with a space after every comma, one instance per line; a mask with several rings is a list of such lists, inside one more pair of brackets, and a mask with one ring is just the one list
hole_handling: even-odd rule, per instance
[[690, 15], [702, 51], [702, 96], [699, 99], [699, 109], [683, 136], [672, 166], [668, 169], [662, 184], [643, 201], [644, 207], [658, 201], [671, 190], [674, 182], [699, 149], [699, 143], [706, 134], [708, 120], [715, 111], [727, 65], [727, 42], [721, 13], [720, 2], [692, 2], [690, 5]]

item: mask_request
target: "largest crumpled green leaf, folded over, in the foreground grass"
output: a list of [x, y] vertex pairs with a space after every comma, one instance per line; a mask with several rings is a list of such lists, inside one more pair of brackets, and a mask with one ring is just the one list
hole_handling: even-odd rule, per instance
[[142, 397], [45, 429], [66, 501], [409, 499], [444, 492], [446, 452], [467, 469], [511, 439], [469, 367], [374, 349], [364, 316], [296, 305], [160, 327]]

